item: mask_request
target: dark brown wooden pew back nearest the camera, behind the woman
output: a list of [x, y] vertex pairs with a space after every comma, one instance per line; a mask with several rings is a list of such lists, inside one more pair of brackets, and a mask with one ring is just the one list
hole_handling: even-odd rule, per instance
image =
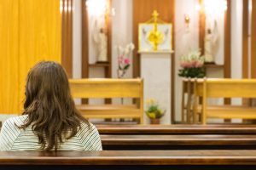
[[0, 169], [256, 169], [256, 150], [5, 151]]

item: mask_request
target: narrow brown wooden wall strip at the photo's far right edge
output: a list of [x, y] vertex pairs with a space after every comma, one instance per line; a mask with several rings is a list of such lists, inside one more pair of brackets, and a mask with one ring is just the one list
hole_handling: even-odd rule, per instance
[[252, 45], [251, 45], [251, 75], [256, 78], [256, 1], [252, 1]]

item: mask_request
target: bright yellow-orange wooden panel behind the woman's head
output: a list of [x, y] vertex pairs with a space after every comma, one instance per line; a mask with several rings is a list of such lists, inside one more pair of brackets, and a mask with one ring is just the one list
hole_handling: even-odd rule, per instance
[[0, 113], [20, 114], [27, 72], [61, 62], [60, 0], [0, 0]]

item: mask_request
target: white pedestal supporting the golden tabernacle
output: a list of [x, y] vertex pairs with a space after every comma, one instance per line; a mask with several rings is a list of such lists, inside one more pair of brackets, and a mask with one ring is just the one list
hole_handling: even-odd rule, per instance
[[[160, 119], [161, 124], [171, 124], [172, 93], [172, 52], [141, 52], [141, 77], [144, 79], [144, 109], [146, 100], [154, 98], [160, 107], [166, 109], [166, 115]], [[144, 122], [149, 123], [148, 116]]]

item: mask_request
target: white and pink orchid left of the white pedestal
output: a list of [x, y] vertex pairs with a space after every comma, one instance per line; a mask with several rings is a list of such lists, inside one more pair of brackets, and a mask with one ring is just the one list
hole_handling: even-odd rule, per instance
[[129, 43], [123, 48], [122, 46], [118, 46], [118, 70], [117, 75], [118, 78], [122, 78], [125, 76], [126, 71], [130, 68], [131, 65], [131, 53], [134, 49], [134, 44]]

